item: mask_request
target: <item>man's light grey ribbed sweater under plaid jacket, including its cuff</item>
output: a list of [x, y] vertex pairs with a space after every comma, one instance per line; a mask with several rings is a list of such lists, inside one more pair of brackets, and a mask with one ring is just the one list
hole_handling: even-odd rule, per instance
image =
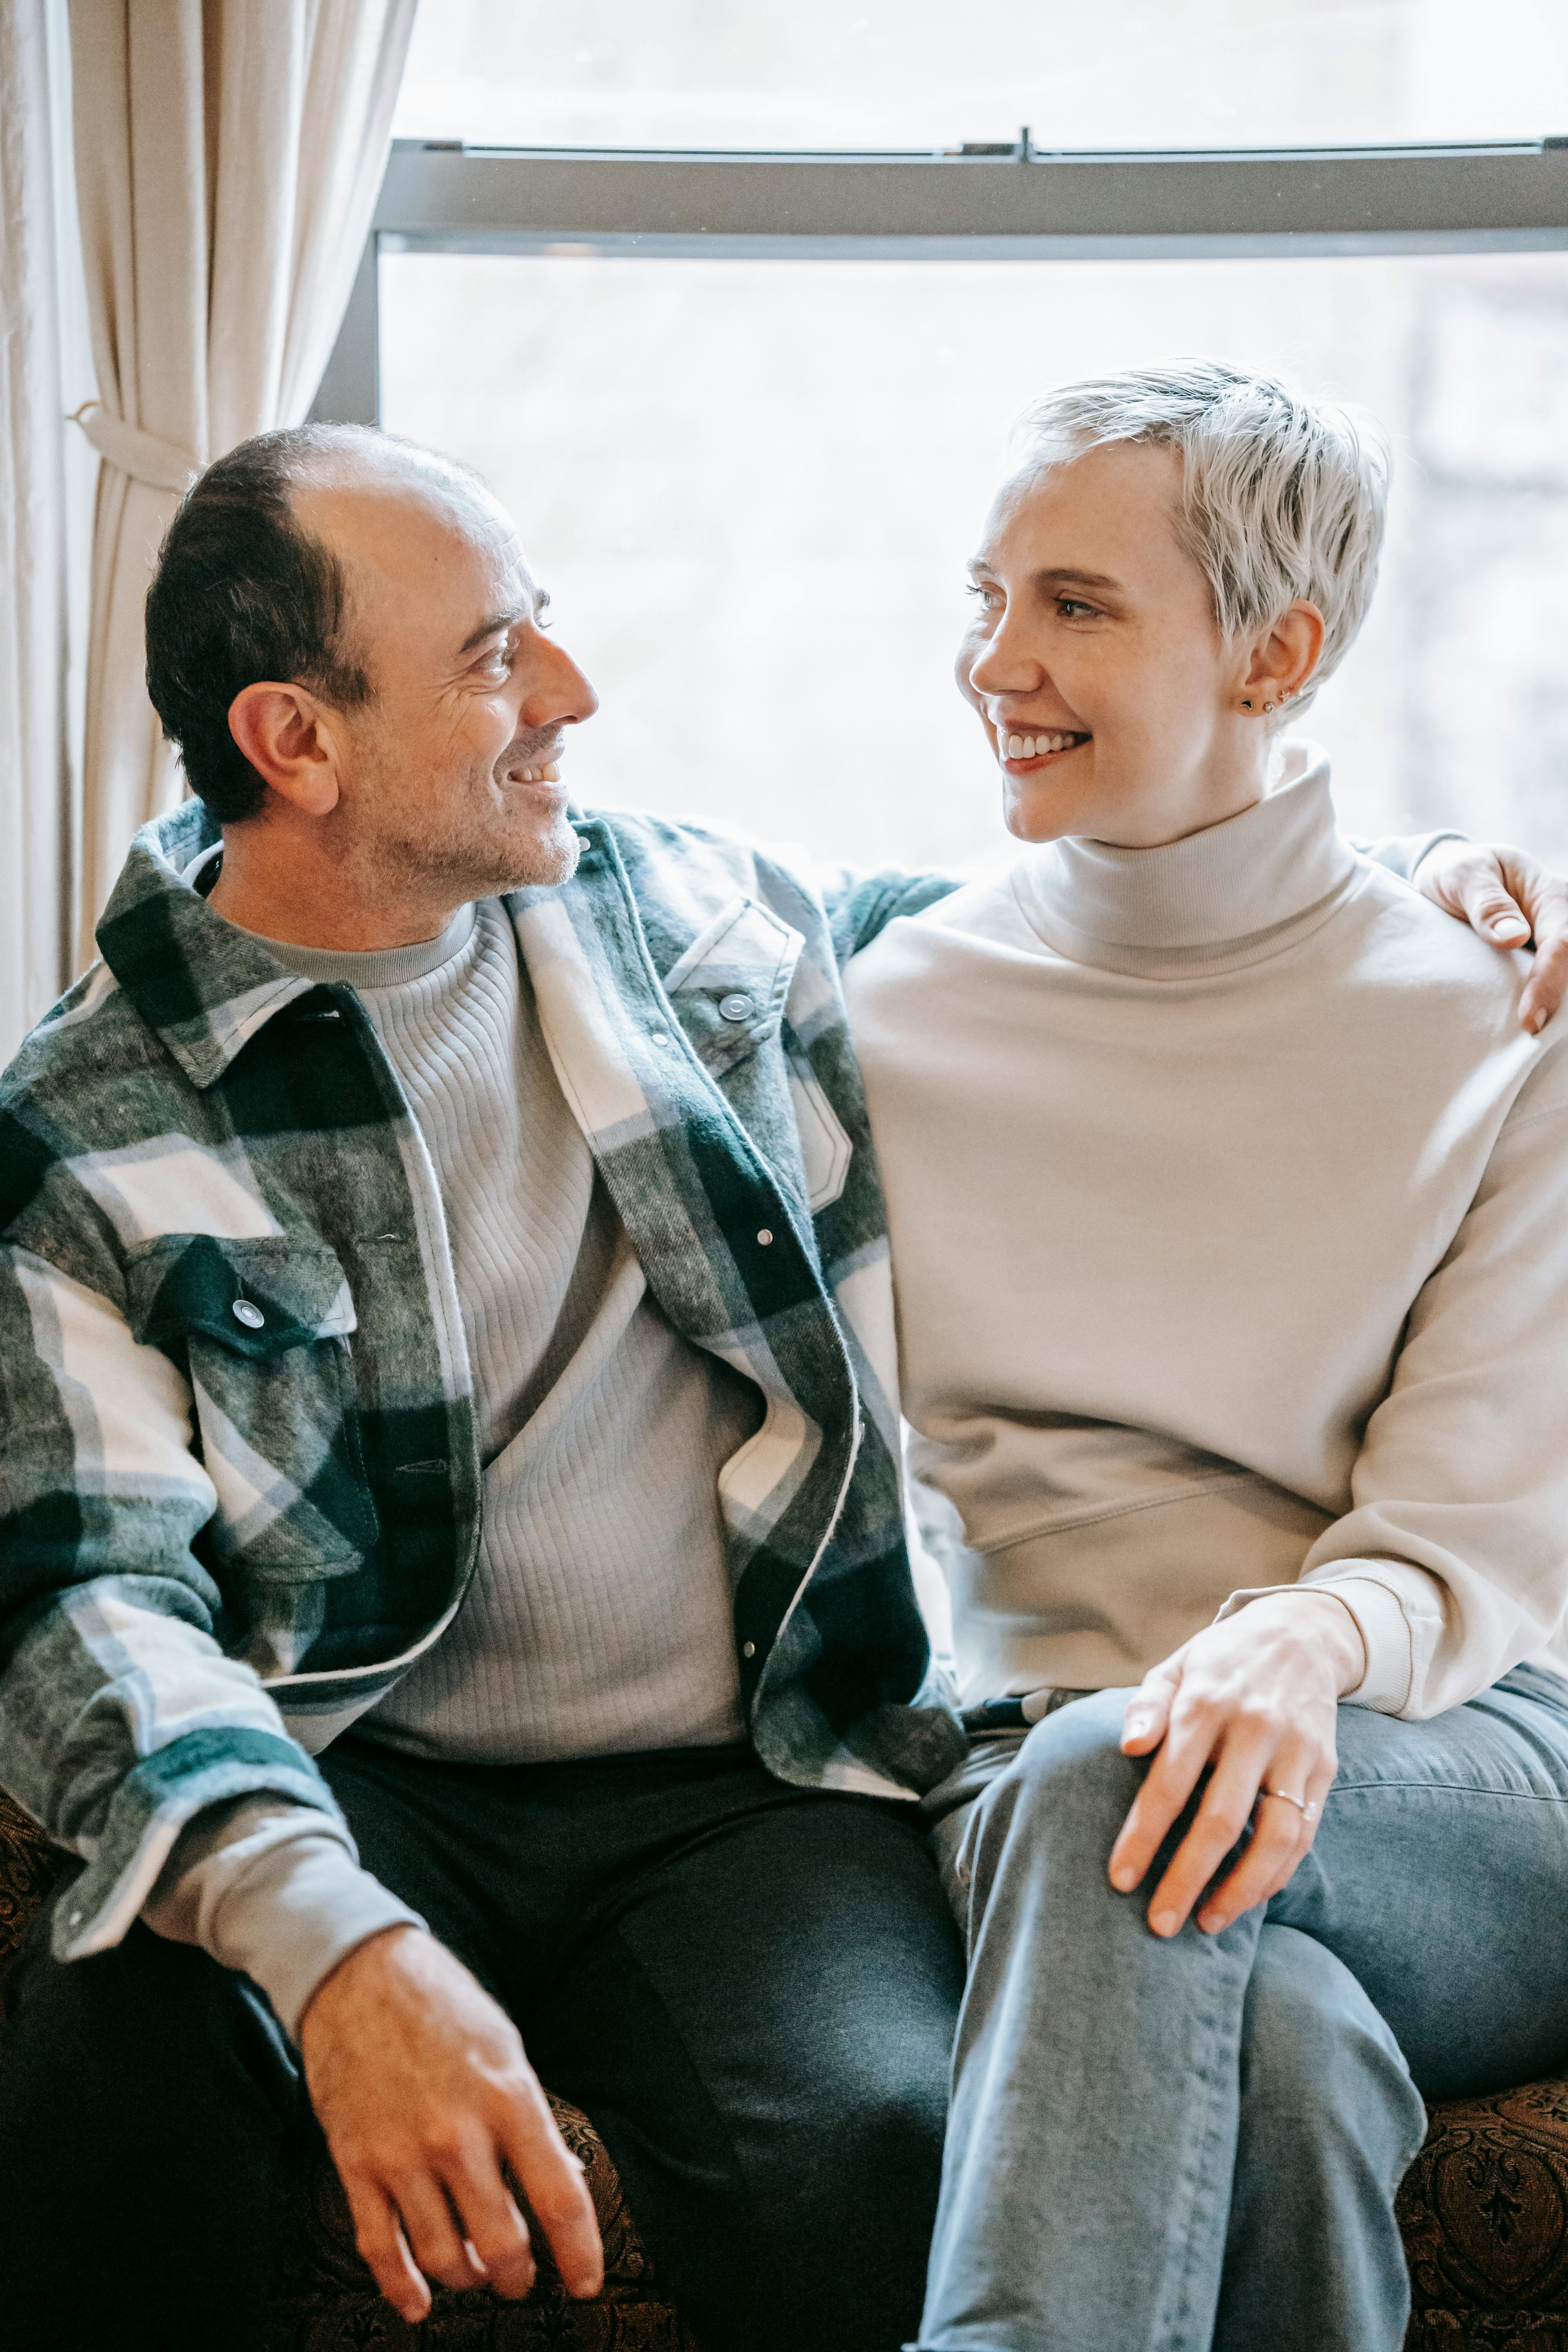
[[[435, 1162], [475, 1378], [484, 1524], [447, 1637], [360, 1731], [487, 1764], [743, 1738], [719, 1465], [762, 1399], [646, 1289], [562, 1096], [498, 901], [343, 955]], [[205, 1816], [143, 1917], [254, 1976], [289, 2030], [378, 1926], [414, 1919], [320, 1813]]]

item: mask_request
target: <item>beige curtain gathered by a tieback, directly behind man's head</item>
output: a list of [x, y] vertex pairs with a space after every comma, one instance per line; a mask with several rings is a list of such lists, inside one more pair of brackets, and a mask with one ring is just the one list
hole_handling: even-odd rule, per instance
[[78, 957], [179, 800], [146, 699], [148, 567], [195, 470], [320, 383], [369, 233], [414, 0], [71, 0], [75, 181], [103, 456]]

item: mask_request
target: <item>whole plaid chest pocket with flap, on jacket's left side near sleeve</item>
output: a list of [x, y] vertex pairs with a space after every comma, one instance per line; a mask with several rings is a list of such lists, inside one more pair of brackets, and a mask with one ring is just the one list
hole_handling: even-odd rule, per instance
[[273, 1583], [357, 1569], [376, 1541], [350, 1352], [355, 1308], [324, 1242], [169, 1232], [127, 1268], [129, 1322], [183, 1362], [221, 1566]]

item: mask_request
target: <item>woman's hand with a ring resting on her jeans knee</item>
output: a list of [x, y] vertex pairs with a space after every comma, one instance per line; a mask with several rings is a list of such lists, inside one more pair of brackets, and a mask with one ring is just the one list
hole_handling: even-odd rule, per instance
[[[1331, 1592], [1251, 1602], [1152, 1668], [1126, 1708], [1121, 1752], [1152, 1755], [1110, 1856], [1121, 1893], [1150, 1863], [1208, 1766], [1204, 1799], [1152, 1898], [1150, 1926], [1218, 1933], [1291, 1879], [1333, 1783], [1340, 1693], [1366, 1670], [1361, 1632]], [[1253, 1823], [1234, 1867], [1220, 1865]]]

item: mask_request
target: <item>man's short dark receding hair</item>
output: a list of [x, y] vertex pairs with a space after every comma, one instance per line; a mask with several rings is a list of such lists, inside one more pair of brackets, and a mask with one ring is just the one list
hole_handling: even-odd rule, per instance
[[317, 454], [376, 440], [355, 426], [256, 433], [190, 485], [148, 590], [148, 694], [219, 823], [256, 816], [266, 783], [228, 731], [242, 687], [275, 677], [339, 710], [371, 680], [346, 628], [343, 564], [294, 520], [289, 489]]

